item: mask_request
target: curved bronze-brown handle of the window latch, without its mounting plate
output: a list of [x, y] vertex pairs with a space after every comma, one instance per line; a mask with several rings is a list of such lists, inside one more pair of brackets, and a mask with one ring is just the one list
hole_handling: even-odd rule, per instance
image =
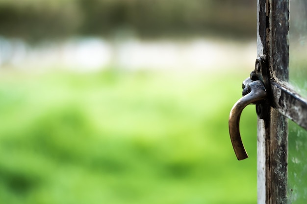
[[243, 109], [249, 104], [259, 104], [267, 96], [265, 87], [260, 80], [252, 81], [247, 78], [243, 82], [243, 97], [232, 107], [229, 116], [229, 133], [232, 147], [238, 160], [248, 158], [240, 135], [240, 116]]

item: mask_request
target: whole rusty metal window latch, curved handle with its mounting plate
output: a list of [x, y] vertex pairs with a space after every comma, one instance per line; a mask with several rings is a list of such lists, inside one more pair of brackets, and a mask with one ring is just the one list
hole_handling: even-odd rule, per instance
[[[244, 145], [242, 143], [240, 135], [240, 116], [243, 109], [249, 104], [256, 104], [256, 112], [260, 118], [267, 113], [266, 110], [263, 110], [266, 104], [267, 91], [264, 83], [266, 80], [263, 80], [263, 63], [262, 58], [256, 60], [256, 68], [251, 73], [251, 76], [244, 80], [242, 84], [243, 97], [240, 98], [232, 107], [229, 116], [229, 133], [232, 143], [234, 153], [238, 160], [248, 158]], [[265, 75], [266, 77], [266, 75]]]

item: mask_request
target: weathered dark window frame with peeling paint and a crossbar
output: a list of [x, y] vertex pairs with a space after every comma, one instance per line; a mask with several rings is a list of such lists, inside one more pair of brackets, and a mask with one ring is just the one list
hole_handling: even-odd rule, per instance
[[270, 113], [257, 119], [257, 202], [286, 204], [288, 118], [307, 129], [307, 100], [287, 84], [289, 0], [257, 0], [257, 57], [270, 81]]

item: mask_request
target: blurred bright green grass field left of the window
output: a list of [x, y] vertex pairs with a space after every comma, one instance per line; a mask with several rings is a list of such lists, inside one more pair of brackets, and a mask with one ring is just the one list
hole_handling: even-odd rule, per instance
[[[232, 69], [234, 70], [234, 69]], [[1, 204], [256, 204], [256, 113], [237, 72], [2, 71]]]

